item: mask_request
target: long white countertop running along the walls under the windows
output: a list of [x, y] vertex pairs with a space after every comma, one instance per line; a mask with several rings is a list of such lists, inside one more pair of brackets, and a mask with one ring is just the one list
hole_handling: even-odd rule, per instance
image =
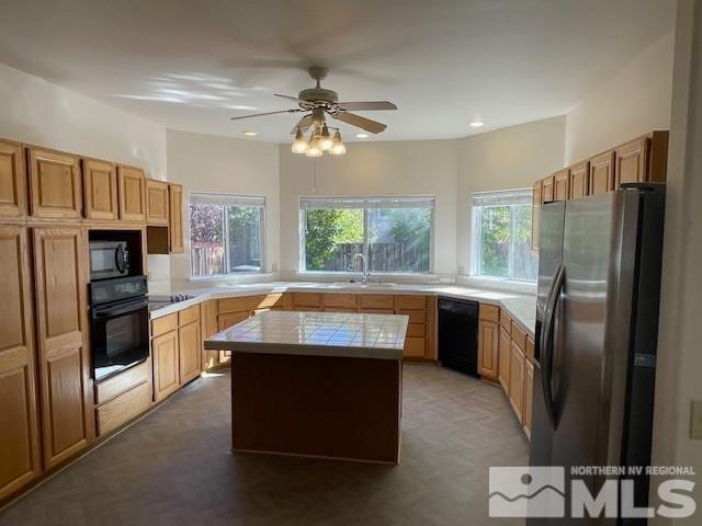
[[151, 319], [177, 312], [192, 305], [216, 298], [234, 298], [256, 294], [281, 293], [330, 293], [330, 294], [426, 294], [445, 296], [457, 299], [471, 299], [482, 304], [495, 305], [507, 309], [510, 317], [534, 338], [536, 320], [536, 299], [534, 296], [511, 294], [486, 288], [458, 285], [414, 285], [414, 284], [370, 284], [362, 286], [352, 283], [310, 283], [310, 282], [270, 282], [242, 284], [228, 287], [182, 290], [194, 296], [192, 299], [179, 301], [150, 312]]

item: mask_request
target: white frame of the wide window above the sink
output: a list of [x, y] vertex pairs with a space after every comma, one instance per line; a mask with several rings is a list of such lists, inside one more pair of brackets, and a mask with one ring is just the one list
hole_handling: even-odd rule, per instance
[[[381, 271], [369, 271], [372, 275], [381, 275], [381, 276], [430, 276], [434, 273], [434, 242], [435, 242], [435, 219], [437, 219], [437, 198], [434, 195], [384, 195], [384, 196], [301, 196], [298, 199], [298, 263], [297, 268], [299, 274], [306, 275], [337, 275], [337, 276], [352, 276], [358, 275], [359, 272], [355, 271], [308, 271], [307, 270], [307, 251], [305, 250], [306, 245], [306, 232], [307, 232], [307, 208], [304, 206], [306, 202], [319, 202], [319, 203], [331, 203], [335, 201], [344, 202], [344, 203], [359, 203], [359, 207], [363, 210], [363, 255], [369, 258], [369, 208], [372, 208], [364, 204], [373, 203], [373, 202], [403, 202], [406, 204], [411, 204], [412, 202], [422, 203], [422, 202], [431, 202], [431, 214], [429, 219], [429, 268], [426, 272], [381, 272]], [[340, 207], [341, 208], [341, 207]], [[347, 208], [352, 208], [348, 206]], [[375, 206], [374, 208], [383, 208], [382, 206]], [[387, 206], [387, 208], [393, 208], [392, 206]], [[397, 206], [396, 208], [411, 208], [409, 206]], [[423, 207], [417, 207], [423, 208]], [[314, 208], [312, 208], [314, 209]], [[333, 208], [331, 208], [333, 209]]]

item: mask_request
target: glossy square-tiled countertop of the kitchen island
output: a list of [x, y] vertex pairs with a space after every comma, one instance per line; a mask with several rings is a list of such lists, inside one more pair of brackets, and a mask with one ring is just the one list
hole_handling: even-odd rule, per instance
[[403, 359], [409, 317], [269, 310], [215, 334], [205, 348], [257, 354]]

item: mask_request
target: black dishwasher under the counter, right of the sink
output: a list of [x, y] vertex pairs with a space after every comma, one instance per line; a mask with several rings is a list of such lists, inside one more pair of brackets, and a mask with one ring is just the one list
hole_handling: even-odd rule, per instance
[[444, 367], [478, 375], [478, 304], [439, 297], [439, 361]]

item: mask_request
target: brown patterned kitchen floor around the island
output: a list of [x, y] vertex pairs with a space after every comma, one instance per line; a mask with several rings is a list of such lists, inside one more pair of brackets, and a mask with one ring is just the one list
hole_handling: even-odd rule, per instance
[[488, 467], [528, 461], [505, 396], [432, 365], [407, 365], [404, 381], [400, 466], [229, 454], [223, 373], [176, 393], [0, 524], [487, 524]]

